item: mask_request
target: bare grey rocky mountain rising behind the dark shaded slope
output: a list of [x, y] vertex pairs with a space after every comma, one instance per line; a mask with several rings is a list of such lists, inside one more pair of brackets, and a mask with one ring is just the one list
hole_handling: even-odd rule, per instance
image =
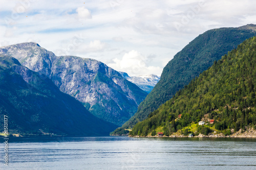
[[12, 56], [46, 75], [60, 91], [80, 101], [92, 114], [118, 126], [134, 115], [147, 95], [102, 62], [55, 56], [34, 42], [1, 47], [0, 54]]

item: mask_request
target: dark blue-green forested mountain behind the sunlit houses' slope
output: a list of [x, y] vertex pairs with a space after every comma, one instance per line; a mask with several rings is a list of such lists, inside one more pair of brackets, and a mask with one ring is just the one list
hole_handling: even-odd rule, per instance
[[215, 60], [256, 35], [256, 25], [220, 28], [206, 31], [189, 42], [164, 67], [161, 79], [139, 105], [138, 111], [122, 127], [133, 127], [145, 119], [192, 79], [210, 67]]

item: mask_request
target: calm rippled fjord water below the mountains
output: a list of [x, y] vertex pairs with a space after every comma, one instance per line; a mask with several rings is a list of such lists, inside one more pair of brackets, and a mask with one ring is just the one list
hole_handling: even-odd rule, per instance
[[9, 148], [0, 169], [256, 169], [256, 139], [10, 138]]

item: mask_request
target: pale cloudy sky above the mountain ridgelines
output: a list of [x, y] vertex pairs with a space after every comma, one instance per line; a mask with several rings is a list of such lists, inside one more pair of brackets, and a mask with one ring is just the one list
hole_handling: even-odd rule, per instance
[[256, 24], [254, 0], [0, 0], [0, 46], [37, 42], [130, 76], [163, 67], [210, 29]]

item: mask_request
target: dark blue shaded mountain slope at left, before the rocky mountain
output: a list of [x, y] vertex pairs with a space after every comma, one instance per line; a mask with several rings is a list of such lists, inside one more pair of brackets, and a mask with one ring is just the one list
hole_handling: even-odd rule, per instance
[[[0, 56], [0, 117], [18, 134], [99, 136], [117, 126], [92, 115], [72, 96], [59, 91], [45, 75], [9, 56]], [[4, 127], [4, 121], [0, 122]]]

